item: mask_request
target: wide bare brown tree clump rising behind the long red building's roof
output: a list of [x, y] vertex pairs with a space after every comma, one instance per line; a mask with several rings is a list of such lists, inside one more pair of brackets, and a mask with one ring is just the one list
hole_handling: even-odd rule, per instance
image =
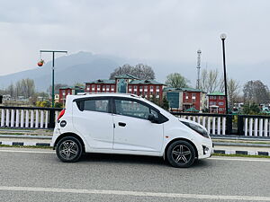
[[114, 79], [117, 75], [133, 75], [139, 79], [155, 79], [155, 72], [151, 66], [138, 64], [136, 66], [130, 66], [125, 64], [114, 69], [110, 75], [110, 79]]

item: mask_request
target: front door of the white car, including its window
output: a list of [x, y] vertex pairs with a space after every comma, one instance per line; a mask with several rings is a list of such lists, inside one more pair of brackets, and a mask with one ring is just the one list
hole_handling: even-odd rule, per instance
[[160, 152], [163, 144], [163, 124], [152, 123], [148, 115], [156, 110], [142, 101], [115, 98], [113, 100], [114, 150]]

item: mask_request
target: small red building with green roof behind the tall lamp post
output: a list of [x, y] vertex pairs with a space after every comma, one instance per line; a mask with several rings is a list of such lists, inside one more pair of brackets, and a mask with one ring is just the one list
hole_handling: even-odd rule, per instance
[[223, 92], [212, 92], [207, 94], [210, 113], [226, 114], [226, 99]]

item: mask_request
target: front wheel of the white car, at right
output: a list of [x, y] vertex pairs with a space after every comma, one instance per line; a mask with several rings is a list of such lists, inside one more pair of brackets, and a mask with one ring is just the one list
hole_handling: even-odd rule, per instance
[[169, 145], [166, 157], [172, 166], [176, 168], [187, 168], [195, 160], [195, 150], [190, 143], [178, 140]]

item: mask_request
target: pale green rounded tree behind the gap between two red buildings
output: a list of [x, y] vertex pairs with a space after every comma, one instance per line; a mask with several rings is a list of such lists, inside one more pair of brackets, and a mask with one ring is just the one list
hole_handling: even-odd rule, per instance
[[166, 85], [172, 88], [186, 88], [187, 83], [190, 83], [183, 75], [172, 73], [166, 76]]

